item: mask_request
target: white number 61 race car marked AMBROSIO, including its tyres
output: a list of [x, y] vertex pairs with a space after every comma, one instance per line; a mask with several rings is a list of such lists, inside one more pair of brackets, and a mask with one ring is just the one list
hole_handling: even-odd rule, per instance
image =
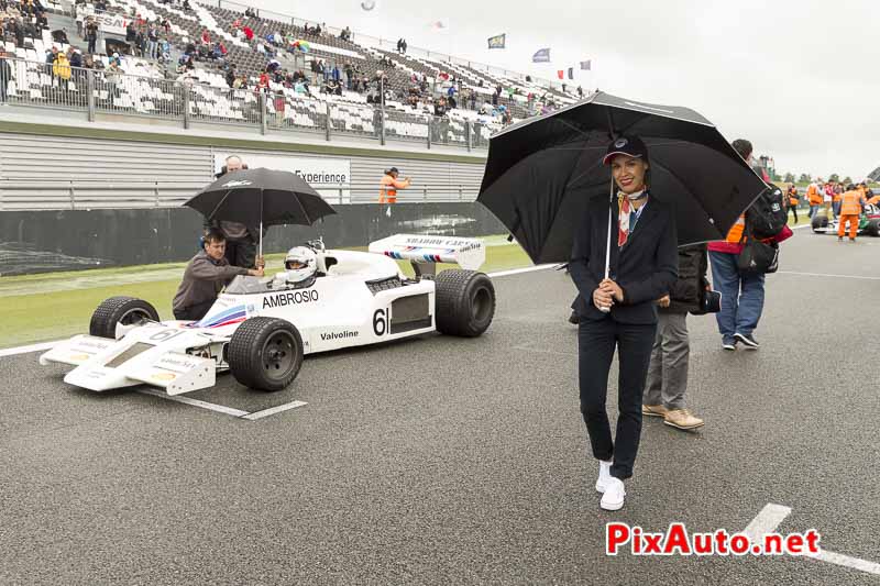
[[[248, 387], [280, 390], [305, 354], [435, 330], [477, 336], [492, 323], [495, 288], [475, 270], [485, 261], [482, 241], [404, 234], [369, 250], [328, 251], [310, 242], [310, 278], [292, 283], [290, 272], [235, 277], [197, 322], [160, 321], [148, 302], [111, 297], [95, 310], [89, 335], [57, 344], [40, 364], [75, 366], [64, 380], [91, 390], [146, 383], [179, 395], [213, 386], [227, 369]], [[410, 261], [416, 278], [395, 259]], [[462, 269], [435, 274], [436, 263]]]

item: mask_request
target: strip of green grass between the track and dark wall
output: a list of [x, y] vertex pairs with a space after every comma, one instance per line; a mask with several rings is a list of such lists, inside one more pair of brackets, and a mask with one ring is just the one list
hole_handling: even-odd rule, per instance
[[[486, 240], [495, 243], [493, 240], [497, 239]], [[277, 272], [283, 258], [283, 254], [267, 255], [268, 273]], [[404, 273], [413, 275], [409, 263], [399, 264]], [[491, 245], [486, 247], [486, 263], [481, 269], [490, 273], [529, 265], [531, 262], [518, 245]], [[172, 319], [172, 298], [185, 266], [185, 263], [173, 263], [3, 277], [0, 279], [0, 314], [3, 316], [0, 321], [0, 347], [87, 332], [95, 308], [114, 295], [146, 299], [156, 307], [163, 319]], [[454, 266], [442, 264], [438, 269]], [[141, 281], [131, 283], [131, 279]], [[94, 286], [96, 283], [101, 285]], [[64, 288], [70, 286], [75, 288]], [[36, 292], [41, 289], [47, 292]], [[28, 292], [15, 295], [16, 291]]]

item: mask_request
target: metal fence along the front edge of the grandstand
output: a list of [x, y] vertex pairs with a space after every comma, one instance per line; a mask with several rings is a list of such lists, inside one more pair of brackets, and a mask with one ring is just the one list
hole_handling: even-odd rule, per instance
[[0, 91], [0, 102], [85, 112], [89, 121], [95, 121], [99, 113], [109, 113], [169, 120], [184, 128], [195, 122], [211, 122], [255, 126], [263, 134], [307, 132], [327, 141], [337, 135], [359, 136], [383, 145], [386, 141], [398, 141], [428, 148], [442, 144], [468, 151], [486, 148], [492, 133], [502, 128], [497, 122], [465, 120], [453, 114], [435, 117], [391, 106], [373, 107], [336, 96], [317, 100], [305, 97], [301, 88], [300, 93], [292, 88], [282, 91], [218, 88], [110, 69], [58, 70], [34, 60], [8, 59], [8, 63], [12, 66], [12, 79], [0, 80], [0, 88], [6, 88]]

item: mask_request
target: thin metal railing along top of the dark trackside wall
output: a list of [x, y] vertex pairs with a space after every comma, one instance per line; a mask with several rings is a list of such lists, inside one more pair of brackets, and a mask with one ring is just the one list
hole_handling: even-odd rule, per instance
[[[0, 180], [0, 211], [177, 208], [208, 183]], [[334, 206], [378, 202], [378, 180], [375, 185], [315, 184], [312, 187]], [[479, 191], [476, 184], [414, 184], [397, 191], [397, 202], [473, 201]]]

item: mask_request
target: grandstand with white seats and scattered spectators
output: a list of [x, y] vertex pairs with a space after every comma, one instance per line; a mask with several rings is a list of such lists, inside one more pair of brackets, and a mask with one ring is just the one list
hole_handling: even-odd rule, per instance
[[[54, 4], [47, 9], [46, 25], [23, 38], [6, 29], [2, 42], [12, 65], [7, 84], [9, 103], [78, 110], [88, 112], [89, 120], [96, 112], [117, 113], [182, 120], [184, 125], [248, 124], [260, 125], [263, 132], [294, 130], [328, 139], [344, 134], [383, 143], [387, 139], [479, 148], [485, 147], [490, 135], [504, 123], [578, 99], [574, 92], [521, 74], [415, 47], [399, 54], [389, 51], [387, 41], [358, 33], [343, 37], [341, 30], [333, 27], [318, 33], [295, 18], [252, 12], [226, 0], [217, 0], [217, 4], [101, 1], [99, 7], [74, 5], [66, 0]], [[14, 8], [18, 1], [9, 4]], [[73, 47], [54, 40], [52, 31], [67, 30], [76, 36], [76, 20], [81, 23], [81, 14], [100, 13], [99, 9], [135, 26], [167, 23], [167, 33], [162, 29], [172, 46], [166, 59], [138, 56], [134, 43], [107, 27], [102, 31], [105, 43], [92, 56], [94, 66], [88, 66], [87, 59], [82, 68], [70, 69], [69, 79], [55, 75], [46, 64], [46, 52], [54, 46], [68, 53]], [[245, 15], [245, 11], [254, 15]], [[15, 11], [8, 15], [14, 18]], [[251, 40], [242, 34], [245, 29], [252, 31]], [[206, 31], [211, 43], [201, 42]], [[290, 45], [294, 38], [300, 48]], [[79, 38], [68, 41], [77, 48], [86, 45]], [[131, 54], [123, 54], [114, 64], [112, 55], [101, 52], [109, 41], [128, 46]], [[222, 43], [224, 56], [206, 56], [215, 47], [219, 51], [218, 43]], [[185, 63], [179, 58], [184, 54], [193, 60], [175, 67]], [[261, 79], [273, 60], [276, 71]], [[328, 73], [314, 71], [319, 60]], [[230, 71], [231, 66], [234, 69]], [[340, 87], [322, 91], [333, 68], [340, 70]], [[229, 80], [234, 78], [241, 79], [230, 87]], [[439, 100], [449, 95], [458, 107], [437, 109]]]

